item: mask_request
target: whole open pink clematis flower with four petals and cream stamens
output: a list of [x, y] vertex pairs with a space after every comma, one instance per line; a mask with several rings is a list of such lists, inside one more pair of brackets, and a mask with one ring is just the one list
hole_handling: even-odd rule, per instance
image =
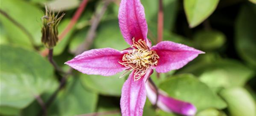
[[177, 70], [204, 53], [186, 45], [163, 41], [151, 46], [140, 0], [121, 0], [119, 27], [131, 45], [123, 51], [113, 48], [93, 49], [69, 60], [72, 68], [84, 74], [111, 76], [131, 71], [122, 88], [122, 116], [142, 116], [146, 100], [145, 83], [155, 69], [159, 73]]

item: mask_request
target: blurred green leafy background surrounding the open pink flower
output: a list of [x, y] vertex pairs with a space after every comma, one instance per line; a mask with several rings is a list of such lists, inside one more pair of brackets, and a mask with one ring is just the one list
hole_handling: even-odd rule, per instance
[[[154, 45], [159, 1], [141, 2]], [[83, 50], [129, 47], [118, 26], [119, 3], [1, 0], [0, 115], [121, 116], [119, 100], [127, 76], [85, 75], [64, 64], [80, 45]], [[65, 13], [58, 26], [61, 40], [53, 51], [64, 72], [50, 64], [41, 43], [45, 4], [55, 13]], [[79, 6], [84, 9], [74, 21]], [[193, 103], [196, 116], [256, 116], [256, 0], [163, 0], [163, 9], [163, 39], [206, 54], [180, 70], [159, 77], [153, 73], [157, 86], [170, 97]], [[179, 115], [154, 109], [147, 100], [144, 116]]]

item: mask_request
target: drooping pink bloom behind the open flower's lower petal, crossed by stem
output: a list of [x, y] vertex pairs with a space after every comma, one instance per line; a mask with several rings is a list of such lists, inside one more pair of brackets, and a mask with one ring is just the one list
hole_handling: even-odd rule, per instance
[[[149, 82], [146, 83], [146, 91], [149, 101], [155, 104], [156, 92]], [[193, 104], [168, 97], [162, 90], [159, 90], [157, 106], [166, 112], [175, 112], [185, 116], [194, 116], [196, 114], [196, 107]]]

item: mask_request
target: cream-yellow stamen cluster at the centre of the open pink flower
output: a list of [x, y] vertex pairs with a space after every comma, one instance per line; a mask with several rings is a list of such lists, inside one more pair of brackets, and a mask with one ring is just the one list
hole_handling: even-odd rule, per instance
[[134, 49], [126, 53], [123, 56], [123, 62], [119, 63], [125, 67], [130, 67], [130, 71], [135, 70], [134, 81], [137, 81], [145, 75], [151, 65], [156, 66], [158, 64], [159, 56], [155, 51], [149, 50], [145, 41], [139, 39], [138, 42], [135, 42], [134, 38], [132, 40], [133, 45], [131, 47]]

